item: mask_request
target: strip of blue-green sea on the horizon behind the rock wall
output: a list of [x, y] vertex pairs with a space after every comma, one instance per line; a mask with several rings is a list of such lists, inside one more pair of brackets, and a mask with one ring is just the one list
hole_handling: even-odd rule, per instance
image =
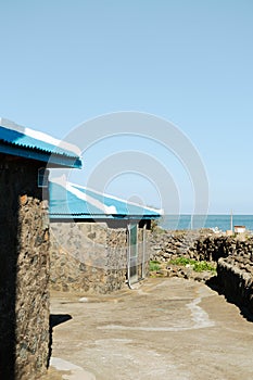
[[159, 225], [164, 229], [200, 229], [230, 230], [231, 226], [245, 226], [253, 231], [253, 215], [164, 215]]

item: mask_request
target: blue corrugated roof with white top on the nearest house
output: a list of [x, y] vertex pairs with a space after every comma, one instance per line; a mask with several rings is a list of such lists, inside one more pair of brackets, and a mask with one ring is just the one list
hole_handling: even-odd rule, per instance
[[0, 119], [0, 152], [65, 167], [81, 167], [77, 147]]

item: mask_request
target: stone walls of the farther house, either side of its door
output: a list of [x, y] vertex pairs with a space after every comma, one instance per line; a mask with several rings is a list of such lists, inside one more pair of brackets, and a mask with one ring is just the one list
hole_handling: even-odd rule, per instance
[[[121, 225], [118, 223], [118, 225]], [[53, 290], [110, 293], [126, 286], [126, 225], [105, 223], [51, 223], [50, 286]], [[138, 276], [147, 276], [149, 231], [138, 231]], [[144, 268], [141, 259], [144, 255]]]

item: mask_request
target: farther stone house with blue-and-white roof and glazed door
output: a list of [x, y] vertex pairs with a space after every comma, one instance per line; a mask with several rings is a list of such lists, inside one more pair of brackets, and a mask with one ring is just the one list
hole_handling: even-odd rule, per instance
[[148, 237], [157, 210], [54, 178], [49, 185], [50, 283], [107, 293], [149, 273]]

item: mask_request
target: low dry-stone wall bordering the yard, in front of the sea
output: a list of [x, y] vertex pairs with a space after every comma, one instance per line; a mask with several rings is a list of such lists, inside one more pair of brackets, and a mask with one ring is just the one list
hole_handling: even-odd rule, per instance
[[207, 280], [211, 274], [194, 274], [190, 268], [169, 264], [178, 256], [217, 263], [220, 290], [231, 302], [253, 313], [253, 237], [217, 236], [211, 230], [154, 230], [151, 238], [151, 258], [165, 266], [163, 276]]

